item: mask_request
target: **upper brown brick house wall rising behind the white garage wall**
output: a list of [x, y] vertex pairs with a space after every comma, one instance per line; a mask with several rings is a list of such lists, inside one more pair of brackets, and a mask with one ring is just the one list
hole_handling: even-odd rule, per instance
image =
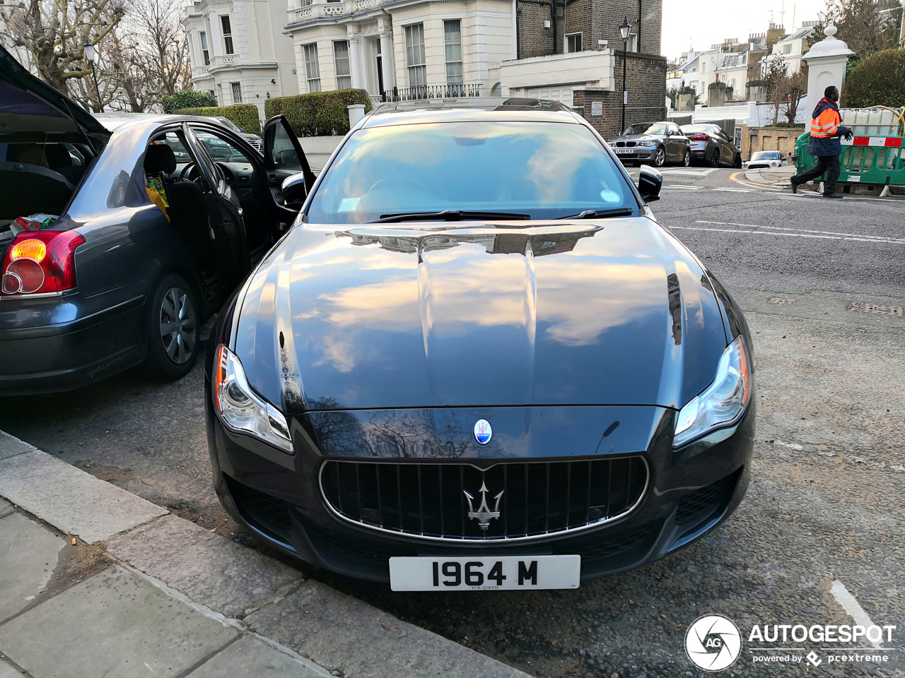
[[[519, 45], [521, 56], [546, 56], [553, 52], [553, 28], [544, 29], [550, 19], [547, 0], [517, 0], [519, 12]], [[560, 2], [560, 0], [557, 0]], [[596, 50], [598, 40], [608, 42], [611, 49], [623, 44], [619, 25], [628, 17], [632, 33], [638, 33], [638, 11], [641, 9], [641, 52], [660, 54], [662, 0], [567, 0], [565, 33], [581, 33], [582, 49]], [[639, 5], [640, 3], [640, 5]], [[563, 48], [563, 7], [557, 7], [557, 53]]]

